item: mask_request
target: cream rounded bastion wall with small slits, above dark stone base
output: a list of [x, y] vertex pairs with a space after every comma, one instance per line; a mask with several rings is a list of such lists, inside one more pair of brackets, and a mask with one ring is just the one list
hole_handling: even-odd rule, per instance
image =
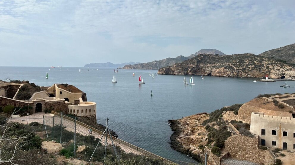
[[80, 102], [78, 105], [68, 105], [68, 114], [77, 117], [96, 115], [96, 103]]

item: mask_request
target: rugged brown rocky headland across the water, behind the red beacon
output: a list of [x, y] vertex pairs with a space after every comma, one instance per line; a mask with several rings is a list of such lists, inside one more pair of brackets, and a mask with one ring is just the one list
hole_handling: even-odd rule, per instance
[[218, 56], [200, 54], [181, 63], [160, 68], [158, 74], [207, 75], [220, 77], [256, 77], [279, 79], [294, 66], [269, 57], [254, 54]]

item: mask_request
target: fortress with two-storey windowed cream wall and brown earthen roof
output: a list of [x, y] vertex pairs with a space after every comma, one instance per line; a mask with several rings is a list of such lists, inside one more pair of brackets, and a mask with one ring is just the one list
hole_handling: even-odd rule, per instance
[[258, 135], [258, 144], [269, 148], [295, 151], [295, 94], [272, 95], [244, 103], [237, 116], [225, 113], [225, 120], [250, 124]]

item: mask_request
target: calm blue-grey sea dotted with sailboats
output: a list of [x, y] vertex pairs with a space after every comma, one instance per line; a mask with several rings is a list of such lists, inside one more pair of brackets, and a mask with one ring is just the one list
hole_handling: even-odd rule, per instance
[[[87, 101], [97, 103], [98, 122], [103, 124], [104, 119], [109, 118], [115, 123], [125, 124], [125, 131], [117, 128], [117, 134], [119, 138], [129, 141], [139, 134], [145, 136], [142, 132], [138, 133], [138, 130], [156, 135], [149, 137], [151, 142], [136, 140], [134, 143], [149, 149], [153, 141], [161, 142], [162, 139], [166, 147], [158, 147], [155, 143], [156, 147], [150, 148], [163, 156], [167, 152], [168, 155], [169, 152], [181, 155], [170, 148], [168, 140], [172, 131], [168, 120], [196, 113], [210, 113], [224, 106], [248, 102], [258, 94], [295, 92], [295, 81], [253, 82], [257, 78], [214, 76], [204, 76], [205, 79], [201, 79], [200, 75], [194, 75], [195, 85], [184, 86], [184, 75], [149, 76], [150, 73], [157, 73], [157, 70], [118, 69], [118, 73], [114, 73], [116, 68], [56, 67], [50, 68], [51, 71], [49, 68], [0, 67], [0, 79], [29, 80], [39, 86], [56, 83], [74, 85], [87, 94]], [[45, 78], [46, 72], [48, 79]], [[117, 83], [112, 83], [113, 76]], [[139, 76], [142, 76], [145, 84], [139, 84]], [[190, 75], [186, 77], [187, 81], [191, 78]], [[285, 82], [291, 88], [280, 88]], [[151, 91], [153, 96], [150, 95]], [[126, 134], [128, 128], [130, 133]], [[116, 132], [115, 125], [113, 130]], [[171, 157], [175, 158], [173, 154]]]

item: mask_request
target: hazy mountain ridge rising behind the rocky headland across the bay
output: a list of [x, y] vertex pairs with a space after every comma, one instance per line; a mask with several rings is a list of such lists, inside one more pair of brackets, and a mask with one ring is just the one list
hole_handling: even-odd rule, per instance
[[196, 52], [195, 54], [192, 54], [188, 57], [184, 57], [182, 55], [177, 56], [176, 58], [165, 58], [163, 60], [158, 60], [158, 61], [152, 61], [152, 62], [148, 62], [148, 63], [140, 63], [140, 64], [129, 64], [129, 65], [125, 65], [122, 69], [159, 69], [162, 67], [166, 67], [166, 66], [171, 66], [175, 63], [180, 63], [183, 62], [185, 60], [189, 60], [192, 57], [196, 57], [198, 54], [200, 53], [207, 53], [207, 54], [212, 54], [212, 55], [225, 55], [224, 53], [220, 52], [219, 50], [216, 49], [201, 49], [198, 52]]

